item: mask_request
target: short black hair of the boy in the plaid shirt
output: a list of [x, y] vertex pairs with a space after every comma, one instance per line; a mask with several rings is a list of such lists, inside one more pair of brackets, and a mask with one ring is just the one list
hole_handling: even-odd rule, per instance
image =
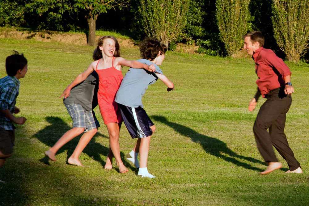
[[13, 77], [17, 74], [19, 69], [23, 69], [27, 64], [27, 59], [22, 54], [19, 54], [18, 51], [13, 50], [11, 56], [6, 57], [5, 60], [5, 69], [6, 74]]

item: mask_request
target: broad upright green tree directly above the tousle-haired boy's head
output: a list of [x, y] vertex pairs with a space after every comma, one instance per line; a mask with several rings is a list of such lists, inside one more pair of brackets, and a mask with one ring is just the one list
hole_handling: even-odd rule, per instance
[[141, 0], [139, 12], [145, 32], [168, 45], [183, 31], [188, 8], [189, 0]]

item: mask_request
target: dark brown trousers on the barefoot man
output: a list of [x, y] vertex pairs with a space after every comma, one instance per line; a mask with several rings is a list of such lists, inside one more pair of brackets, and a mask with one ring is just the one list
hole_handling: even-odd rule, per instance
[[284, 134], [286, 113], [290, 109], [292, 97], [286, 96], [284, 88], [271, 90], [266, 97], [267, 100], [260, 107], [253, 126], [257, 148], [265, 162], [278, 162], [273, 151], [274, 146], [286, 160], [290, 170], [296, 170], [300, 163], [294, 157]]

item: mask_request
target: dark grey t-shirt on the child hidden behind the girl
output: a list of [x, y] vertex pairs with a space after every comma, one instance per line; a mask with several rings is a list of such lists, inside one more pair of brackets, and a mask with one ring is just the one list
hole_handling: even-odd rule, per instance
[[63, 99], [64, 104], [81, 104], [85, 110], [91, 111], [98, 105], [98, 74], [93, 71], [83, 82], [74, 86], [70, 96]]

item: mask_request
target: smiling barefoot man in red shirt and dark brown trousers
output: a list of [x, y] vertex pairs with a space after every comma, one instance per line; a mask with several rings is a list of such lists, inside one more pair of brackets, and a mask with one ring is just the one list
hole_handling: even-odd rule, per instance
[[268, 163], [266, 170], [260, 174], [269, 174], [282, 167], [272, 146], [288, 163], [290, 170], [286, 173], [303, 173], [284, 134], [286, 113], [291, 106], [291, 94], [294, 92], [290, 82], [291, 71], [272, 50], [263, 48], [265, 40], [261, 32], [249, 32], [243, 39], [243, 48], [252, 55], [258, 76], [257, 92], [249, 102], [249, 111], [255, 109], [260, 95], [267, 98], [260, 107], [253, 126], [257, 148]]

